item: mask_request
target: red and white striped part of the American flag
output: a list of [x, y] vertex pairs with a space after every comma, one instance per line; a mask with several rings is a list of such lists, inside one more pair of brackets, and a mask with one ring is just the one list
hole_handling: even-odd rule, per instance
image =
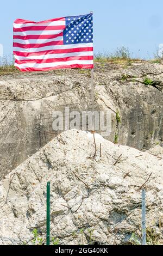
[[65, 18], [14, 22], [15, 66], [21, 71], [93, 68], [93, 44], [64, 45]]

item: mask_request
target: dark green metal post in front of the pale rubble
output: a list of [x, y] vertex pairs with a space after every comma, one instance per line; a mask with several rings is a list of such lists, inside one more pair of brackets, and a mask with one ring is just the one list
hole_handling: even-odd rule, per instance
[[50, 182], [47, 182], [46, 187], [46, 245], [50, 245]]

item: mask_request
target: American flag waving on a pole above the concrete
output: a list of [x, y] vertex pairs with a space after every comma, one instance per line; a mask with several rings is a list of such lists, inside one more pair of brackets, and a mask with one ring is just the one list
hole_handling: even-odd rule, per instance
[[92, 69], [92, 13], [40, 22], [17, 19], [13, 47], [21, 71]]

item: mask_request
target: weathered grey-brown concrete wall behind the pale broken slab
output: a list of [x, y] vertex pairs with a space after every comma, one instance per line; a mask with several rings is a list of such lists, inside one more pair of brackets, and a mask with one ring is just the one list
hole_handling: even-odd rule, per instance
[[[162, 64], [143, 61], [95, 65], [95, 109], [112, 111], [106, 139], [114, 142], [117, 133], [118, 143], [140, 150], [162, 145], [162, 72]], [[159, 90], [143, 84], [146, 76], [160, 82]], [[91, 109], [89, 70], [0, 76], [1, 178], [59, 133], [52, 129], [52, 113], [65, 106], [70, 111]]]

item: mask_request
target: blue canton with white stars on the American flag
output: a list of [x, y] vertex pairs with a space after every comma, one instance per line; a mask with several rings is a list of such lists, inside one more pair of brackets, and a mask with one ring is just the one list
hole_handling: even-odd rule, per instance
[[66, 17], [64, 44], [81, 44], [93, 41], [92, 14]]

